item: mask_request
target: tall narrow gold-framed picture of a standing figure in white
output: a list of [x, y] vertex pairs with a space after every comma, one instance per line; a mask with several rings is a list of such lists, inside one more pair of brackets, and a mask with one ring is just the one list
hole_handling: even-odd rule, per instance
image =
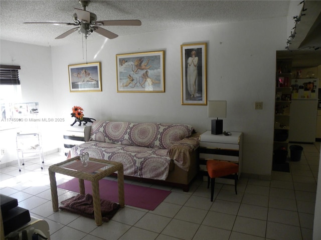
[[182, 105], [207, 105], [207, 43], [181, 45]]

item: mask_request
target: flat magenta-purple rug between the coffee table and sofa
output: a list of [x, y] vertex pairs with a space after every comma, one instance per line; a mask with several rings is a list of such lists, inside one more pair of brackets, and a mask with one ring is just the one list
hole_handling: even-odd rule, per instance
[[[84, 180], [86, 193], [92, 194], [91, 182]], [[79, 192], [78, 178], [73, 178], [65, 183], [57, 185], [69, 191]], [[138, 186], [124, 183], [125, 204], [154, 210], [170, 193], [171, 191], [156, 189], [152, 187]], [[100, 198], [118, 202], [118, 183], [107, 179], [99, 180]]]

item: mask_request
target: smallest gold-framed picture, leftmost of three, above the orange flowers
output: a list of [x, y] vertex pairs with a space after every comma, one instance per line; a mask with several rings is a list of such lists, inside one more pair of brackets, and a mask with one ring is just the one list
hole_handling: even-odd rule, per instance
[[102, 91], [100, 62], [68, 65], [70, 92]]

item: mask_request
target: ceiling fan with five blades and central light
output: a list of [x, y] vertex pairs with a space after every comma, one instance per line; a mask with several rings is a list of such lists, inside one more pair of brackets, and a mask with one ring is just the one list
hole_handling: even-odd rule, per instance
[[67, 24], [74, 25], [77, 27], [71, 28], [70, 30], [57, 36], [55, 39], [60, 39], [68, 36], [74, 31], [79, 31], [83, 33], [85, 37], [89, 36], [92, 32], [97, 32], [107, 38], [115, 38], [118, 35], [102, 28], [100, 26], [140, 26], [140, 20], [103, 20], [97, 21], [97, 15], [93, 12], [86, 11], [86, 7], [89, 5], [89, 0], [79, 0], [79, 3], [83, 9], [75, 8], [75, 13], [73, 14], [73, 23], [70, 22], [24, 22], [24, 23], [49, 23], [49, 24]]

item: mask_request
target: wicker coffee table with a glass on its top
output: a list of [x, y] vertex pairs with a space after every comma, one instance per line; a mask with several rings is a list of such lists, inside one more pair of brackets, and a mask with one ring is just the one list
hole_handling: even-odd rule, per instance
[[117, 171], [119, 205], [120, 207], [124, 207], [124, 170], [122, 163], [89, 157], [88, 166], [82, 166], [79, 156], [76, 156], [49, 166], [53, 210], [59, 210], [56, 172], [78, 178], [80, 194], [85, 194], [84, 179], [89, 180], [92, 183], [95, 222], [98, 226], [101, 225], [102, 217], [99, 195], [99, 180], [115, 171]]

